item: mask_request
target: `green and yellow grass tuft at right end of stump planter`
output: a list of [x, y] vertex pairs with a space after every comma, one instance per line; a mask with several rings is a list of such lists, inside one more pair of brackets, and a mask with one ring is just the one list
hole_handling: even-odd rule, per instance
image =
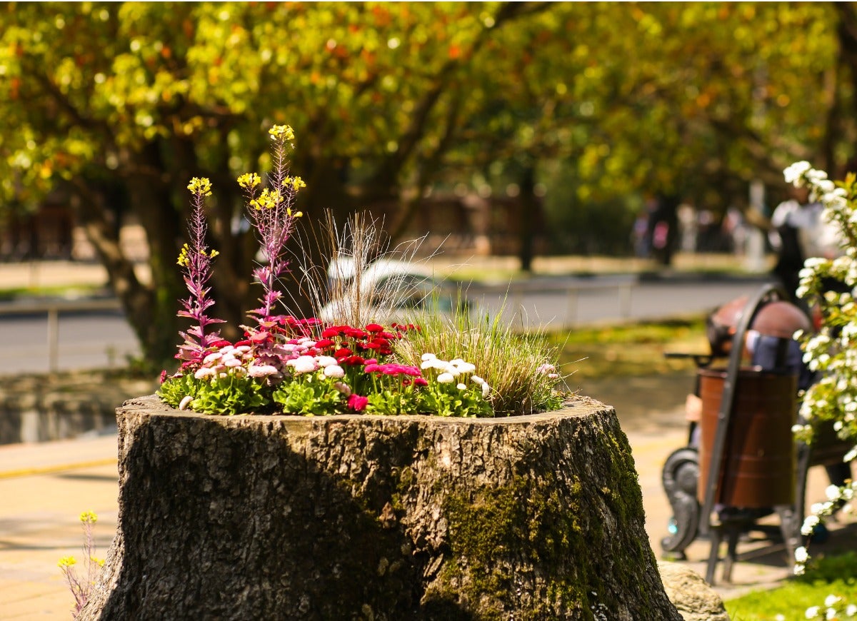
[[[518, 334], [501, 320], [479, 309], [458, 308], [452, 316], [420, 313], [422, 330], [394, 345], [405, 364], [419, 364], [424, 352], [450, 360], [474, 361], [476, 373], [491, 387], [488, 399], [494, 416], [531, 414], [559, 409], [568, 397], [557, 372], [559, 348], [540, 332]], [[564, 390], [558, 390], [562, 385]]]

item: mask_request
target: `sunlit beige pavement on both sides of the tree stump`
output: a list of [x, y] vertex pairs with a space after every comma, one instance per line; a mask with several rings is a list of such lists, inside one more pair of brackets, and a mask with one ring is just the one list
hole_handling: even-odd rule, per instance
[[[598, 390], [597, 385], [594, 388]], [[652, 549], [660, 556], [659, 542], [667, 534], [671, 515], [662, 492], [661, 467], [669, 452], [684, 442], [682, 415], [678, 408], [667, 409], [656, 416], [630, 419], [625, 427], [623, 424], [643, 490], [646, 530]], [[81, 511], [99, 516], [95, 526], [99, 556], [104, 557], [110, 546], [117, 522], [116, 441], [111, 434], [0, 446], [0, 618], [23, 621], [71, 616], [74, 602], [57, 560], [75, 555], [82, 561]], [[823, 496], [825, 481], [824, 470], [816, 470], [811, 473], [809, 498], [817, 500]], [[704, 541], [694, 542], [687, 550], [686, 563], [704, 574], [708, 550]], [[726, 599], [776, 586], [790, 575], [782, 546], [742, 543], [739, 552], [734, 582], [716, 585]]]

